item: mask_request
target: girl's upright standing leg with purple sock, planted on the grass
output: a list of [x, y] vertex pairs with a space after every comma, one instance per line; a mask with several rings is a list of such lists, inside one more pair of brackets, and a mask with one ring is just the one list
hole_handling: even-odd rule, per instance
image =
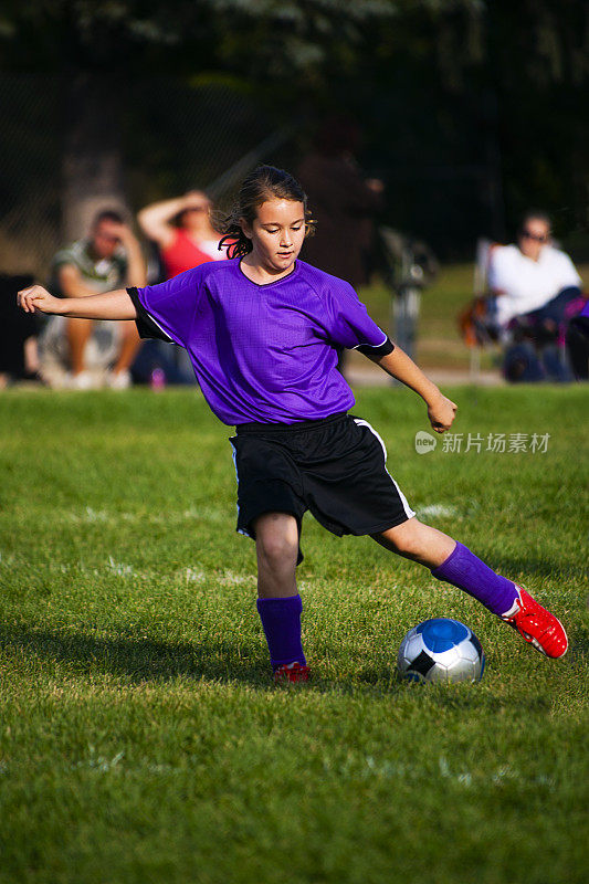
[[257, 554], [257, 611], [270, 660], [288, 681], [308, 677], [301, 644], [303, 603], [296, 589], [298, 526], [287, 513], [264, 513], [253, 524]]

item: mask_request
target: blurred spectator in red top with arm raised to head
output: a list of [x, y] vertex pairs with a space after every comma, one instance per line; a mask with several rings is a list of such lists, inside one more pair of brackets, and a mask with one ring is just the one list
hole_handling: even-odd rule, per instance
[[146, 206], [137, 221], [145, 235], [158, 244], [168, 280], [227, 257], [211, 223], [211, 201], [201, 190]]

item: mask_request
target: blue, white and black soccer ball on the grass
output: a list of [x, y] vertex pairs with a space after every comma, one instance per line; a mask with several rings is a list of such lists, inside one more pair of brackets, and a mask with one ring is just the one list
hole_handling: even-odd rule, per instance
[[469, 627], [437, 617], [407, 633], [399, 648], [397, 666], [401, 675], [417, 682], [478, 682], [485, 655]]

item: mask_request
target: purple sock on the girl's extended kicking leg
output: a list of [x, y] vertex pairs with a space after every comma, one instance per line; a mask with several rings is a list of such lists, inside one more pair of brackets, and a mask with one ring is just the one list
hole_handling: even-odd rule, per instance
[[462, 544], [456, 544], [446, 560], [432, 569], [432, 575], [437, 580], [445, 580], [459, 589], [464, 589], [498, 617], [511, 611], [515, 599], [518, 598], [512, 580], [495, 573]]

